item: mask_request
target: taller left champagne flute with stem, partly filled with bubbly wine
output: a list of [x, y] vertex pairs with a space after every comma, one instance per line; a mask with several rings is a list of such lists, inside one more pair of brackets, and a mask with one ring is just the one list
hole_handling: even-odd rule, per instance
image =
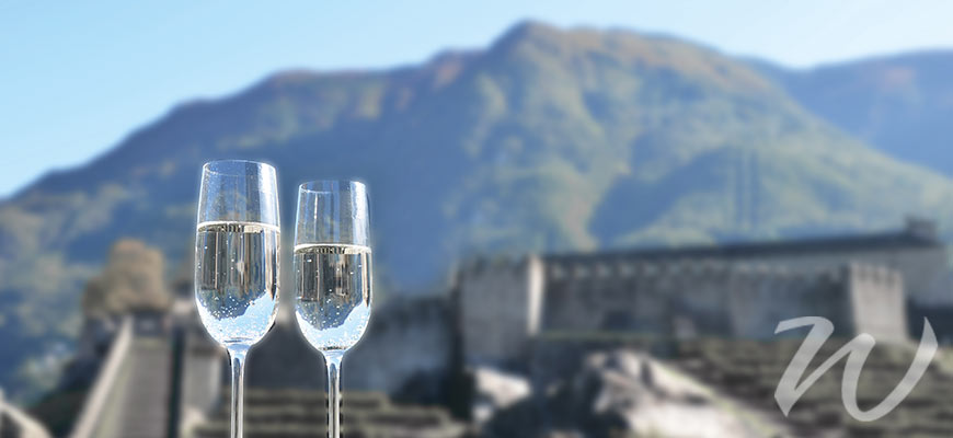
[[231, 437], [242, 436], [249, 348], [275, 324], [278, 303], [275, 168], [213, 161], [202, 168], [195, 239], [195, 302], [208, 334], [231, 359]]

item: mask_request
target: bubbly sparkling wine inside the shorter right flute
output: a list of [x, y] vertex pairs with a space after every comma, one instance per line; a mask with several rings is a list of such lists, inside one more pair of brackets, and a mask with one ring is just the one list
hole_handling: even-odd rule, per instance
[[346, 350], [367, 328], [370, 249], [347, 244], [295, 247], [295, 313], [305, 338], [321, 351]]

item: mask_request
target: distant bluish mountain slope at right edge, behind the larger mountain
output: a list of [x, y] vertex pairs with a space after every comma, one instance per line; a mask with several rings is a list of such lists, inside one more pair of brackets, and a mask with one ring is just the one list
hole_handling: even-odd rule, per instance
[[885, 153], [953, 175], [953, 50], [789, 70], [766, 62], [812, 113]]

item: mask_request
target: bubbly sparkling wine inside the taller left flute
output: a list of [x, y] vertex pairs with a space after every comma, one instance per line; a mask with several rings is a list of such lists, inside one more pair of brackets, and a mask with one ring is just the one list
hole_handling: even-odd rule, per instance
[[278, 242], [274, 226], [204, 222], [195, 242], [195, 300], [211, 337], [251, 346], [275, 323]]

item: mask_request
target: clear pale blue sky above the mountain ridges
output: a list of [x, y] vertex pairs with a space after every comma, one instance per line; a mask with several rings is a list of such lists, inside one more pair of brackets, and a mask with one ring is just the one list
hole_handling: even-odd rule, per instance
[[791, 67], [953, 48], [953, 2], [0, 0], [0, 197], [82, 164], [176, 103], [288, 68], [384, 68], [513, 23], [679, 35]]

